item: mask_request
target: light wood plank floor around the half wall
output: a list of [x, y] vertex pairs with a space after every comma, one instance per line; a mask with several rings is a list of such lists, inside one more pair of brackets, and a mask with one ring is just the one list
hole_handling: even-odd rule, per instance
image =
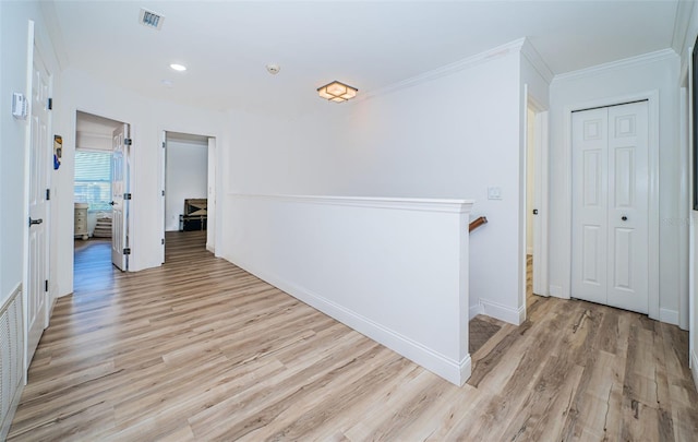
[[98, 252], [83, 249], [10, 440], [697, 440], [675, 326], [531, 297], [457, 387], [215, 259], [201, 234], [167, 240], [167, 264], [135, 274], [87, 271]]

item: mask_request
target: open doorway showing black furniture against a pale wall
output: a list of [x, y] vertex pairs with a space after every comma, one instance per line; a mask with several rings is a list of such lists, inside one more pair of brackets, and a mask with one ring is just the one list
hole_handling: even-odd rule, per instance
[[165, 263], [170, 252], [213, 248], [215, 139], [170, 131], [163, 136]]

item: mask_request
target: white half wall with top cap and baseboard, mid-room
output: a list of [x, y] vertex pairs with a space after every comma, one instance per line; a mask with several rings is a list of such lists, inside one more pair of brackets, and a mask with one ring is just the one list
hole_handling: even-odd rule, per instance
[[457, 385], [470, 377], [471, 202], [238, 194], [225, 202], [225, 258]]

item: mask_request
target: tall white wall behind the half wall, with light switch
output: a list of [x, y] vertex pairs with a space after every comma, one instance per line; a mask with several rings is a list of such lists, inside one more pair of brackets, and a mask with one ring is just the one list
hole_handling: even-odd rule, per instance
[[[490, 223], [470, 238], [472, 311], [518, 323], [519, 47], [353, 103], [321, 103], [324, 112], [306, 118], [230, 111], [227, 188], [474, 199], [473, 217], [486, 215]], [[500, 187], [503, 199], [489, 201], [488, 187]]]

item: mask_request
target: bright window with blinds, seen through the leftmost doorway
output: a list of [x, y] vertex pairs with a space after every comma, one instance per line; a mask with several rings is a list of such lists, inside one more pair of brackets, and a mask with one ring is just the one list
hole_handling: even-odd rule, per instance
[[111, 152], [75, 151], [75, 202], [111, 211]]

